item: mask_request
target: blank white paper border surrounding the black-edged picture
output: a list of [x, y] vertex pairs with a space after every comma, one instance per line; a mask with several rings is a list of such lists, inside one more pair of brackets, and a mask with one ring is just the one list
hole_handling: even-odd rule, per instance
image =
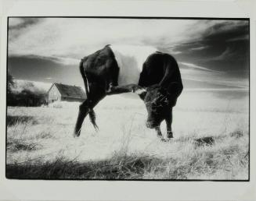
[[[250, 19], [250, 133], [255, 126], [255, 2], [252, 1], [2, 1], [0, 55], [0, 200], [255, 200], [250, 182], [46, 181], [5, 178], [7, 22], [9, 16], [126, 16]], [[255, 167], [250, 135], [250, 170]]]

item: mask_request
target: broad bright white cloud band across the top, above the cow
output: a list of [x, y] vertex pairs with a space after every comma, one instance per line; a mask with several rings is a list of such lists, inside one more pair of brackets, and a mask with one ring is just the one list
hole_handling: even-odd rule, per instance
[[[146, 44], [166, 48], [197, 41], [209, 26], [216, 23], [219, 22], [184, 19], [11, 18], [9, 55], [80, 59], [106, 44]], [[171, 53], [178, 55], [182, 52], [172, 49]], [[57, 62], [67, 61], [59, 59]]]

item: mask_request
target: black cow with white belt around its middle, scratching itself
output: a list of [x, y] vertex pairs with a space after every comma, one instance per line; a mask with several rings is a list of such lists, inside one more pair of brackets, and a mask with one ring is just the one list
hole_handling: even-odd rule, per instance
[[178, 64], [171, 55], [145, 46], [106, 45], [81, 59], [80, 72], [87, 99], [80, 105], [74, 136], [80, 136], [86, 117], [97, 129], [93, 108], [107, 95], [133, 92], [146, 104], [146, 126], [156, 129], [164, 139], [160, 123], [165, 120], [167, 136], [172, 138], [172, 108], [182, 93]]

